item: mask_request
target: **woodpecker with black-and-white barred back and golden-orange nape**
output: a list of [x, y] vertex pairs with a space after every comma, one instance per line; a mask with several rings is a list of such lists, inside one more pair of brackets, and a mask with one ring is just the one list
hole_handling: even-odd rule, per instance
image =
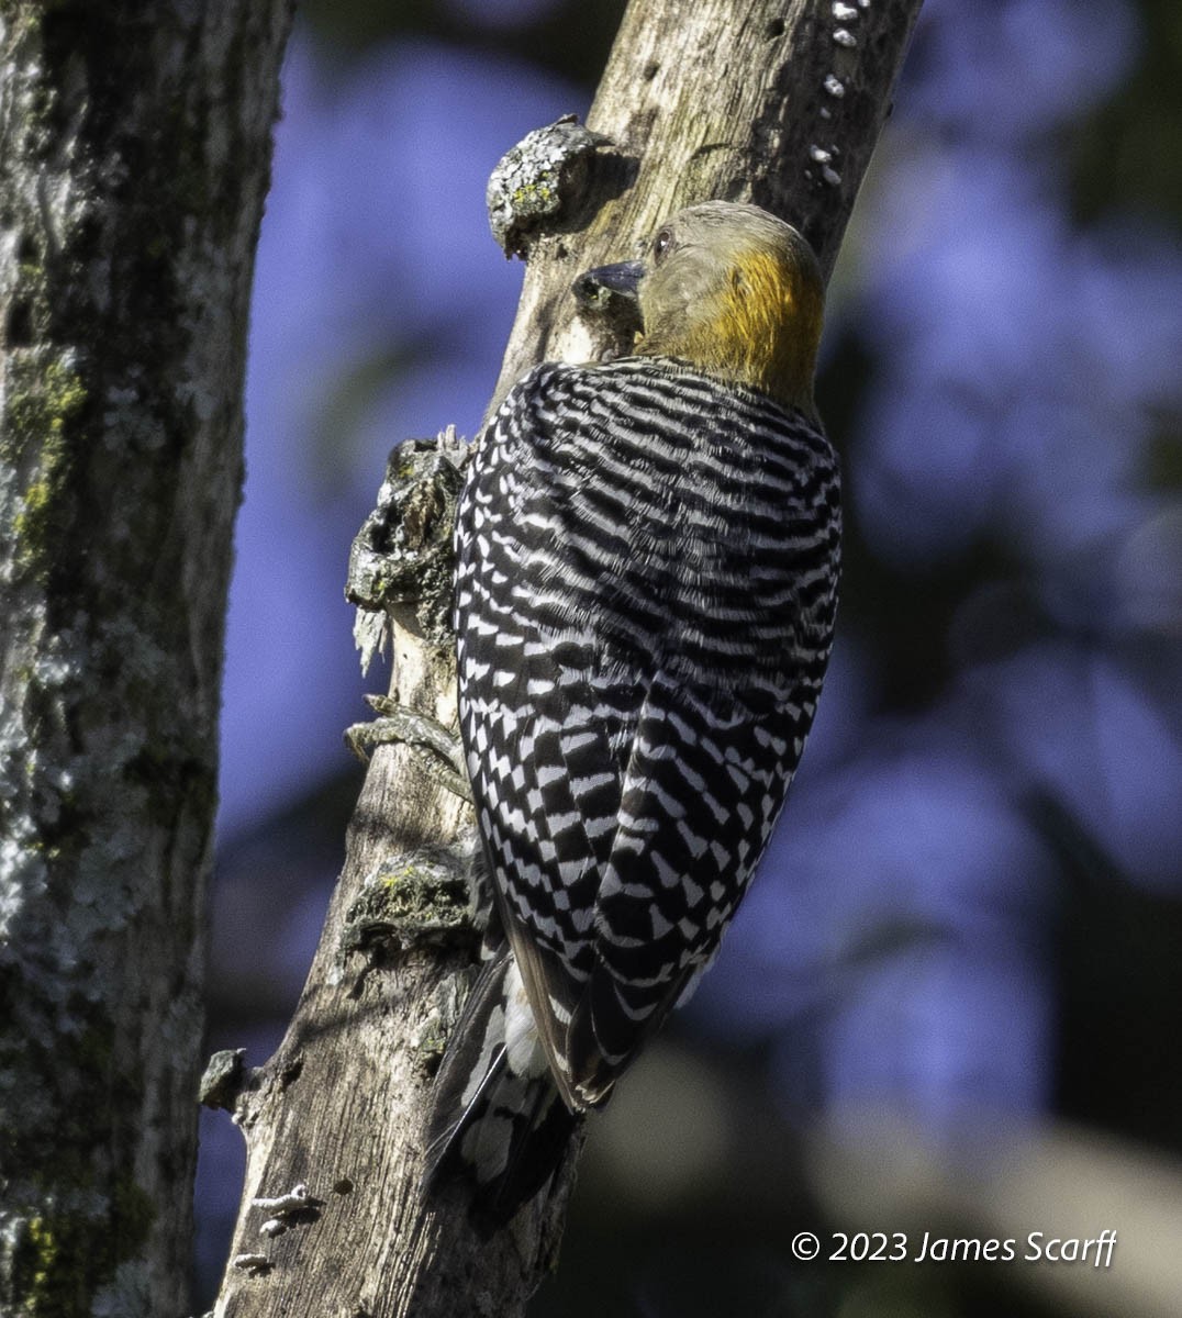
[[466, 1172], [490, 1228], [718, 950], [800, 760], [837, 608], [808, 243], [708, 202], [576, 293], [596, 289], [638, 299], [633, 352], [524, 376], [456, 527], [494, 950], [436, 1081], [427, 1177]]

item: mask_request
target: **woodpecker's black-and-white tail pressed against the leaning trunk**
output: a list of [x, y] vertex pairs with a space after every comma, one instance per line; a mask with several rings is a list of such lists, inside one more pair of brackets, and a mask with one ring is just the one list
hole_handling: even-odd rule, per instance
[[480, 973], [435, 1079], [428, 1193], [473, 1185], [472, 1220], [503, 1226], [553, 1172], [578, 1124], [559, 1097], [517, 961], [502, 948]]

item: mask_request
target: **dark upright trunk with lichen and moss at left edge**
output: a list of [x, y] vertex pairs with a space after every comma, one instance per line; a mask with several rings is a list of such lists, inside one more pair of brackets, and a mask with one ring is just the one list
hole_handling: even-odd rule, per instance
[[0, 3], [0, 1311], [181, 1314], [290, 0]]

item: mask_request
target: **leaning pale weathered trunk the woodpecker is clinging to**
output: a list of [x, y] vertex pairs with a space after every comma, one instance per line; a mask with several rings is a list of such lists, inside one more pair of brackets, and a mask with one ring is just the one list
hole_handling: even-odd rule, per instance
[[[611, 144], [546, 137], [495, 175], [498, 229], [528, 256], [495, 395], [543, 357], [618, 347], [576, 319], [571, 282], [633, 256], [680, 206], [755, 200], [802, 228], [828, 273], [918, 7], [634, 0], [589, 116]], [[393, 455], [352, 576], [394, 629], [391, 697], [449, 725], [440, 619], [460, 461], [445, 442]], [[514, 1318], [555, 1257], [569, 1165], [490, 1242], [461, 1195], [420, 1199], [431, 1070], [472, 956], [457, 887], [468, 812], [424, 755], [376, 750], [295, 1019], [237, 1095], [246, 1189], [219, 1314]], [[296, 1190], [279, 1215], [256, 1202]]]

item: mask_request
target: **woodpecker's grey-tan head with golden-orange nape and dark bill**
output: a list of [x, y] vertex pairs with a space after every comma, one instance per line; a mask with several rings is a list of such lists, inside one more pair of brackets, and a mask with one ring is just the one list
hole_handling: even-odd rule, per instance
[[813, 373], [825, 286], [809, 244], [758, 206], [705, 202], [658, 229], [643, 261], [590, 270], [639, 299], [640, 356], [677, 357], [816, 416]]

